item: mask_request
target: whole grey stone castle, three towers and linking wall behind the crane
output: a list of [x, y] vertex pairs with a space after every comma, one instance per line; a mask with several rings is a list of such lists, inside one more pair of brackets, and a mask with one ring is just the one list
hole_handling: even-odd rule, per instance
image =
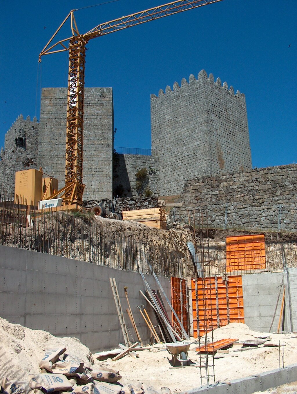
[[[14, 190], [14, 173], [43, 168], [65, 182], [66, 88], [44, 88], [40, 124], [17, 119], [0, 156], [0, 189]], [[113, 152], [112, 88], [86, 88], [84, 96], [84, 199], [137, 196], [136, 173], [147, 168], [153, 195], [181, 193], [188, 179], [252, 167], [245, 96], [204, 70], [173, 91], [151, 95], [152, 156]], [[116, 160], [113, 160], [114, 157]], [[114, 163], [113, 163], [114, 161]], [[113, 165], [114, 164], [114, 165]], [[113, 176], [114, 172], [114, 176]], [[114, 179], [113, 179], [114, 178]]]

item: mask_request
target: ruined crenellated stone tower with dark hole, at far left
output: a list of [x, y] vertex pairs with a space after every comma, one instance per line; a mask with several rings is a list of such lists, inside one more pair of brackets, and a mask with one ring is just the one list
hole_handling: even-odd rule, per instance
[[0, 152], [0, 189], [7, 193], [15, 190], [15, 173], [37, 168], [39, 124], [34, 117], [20, 115], [5, 134], [4, 149]]

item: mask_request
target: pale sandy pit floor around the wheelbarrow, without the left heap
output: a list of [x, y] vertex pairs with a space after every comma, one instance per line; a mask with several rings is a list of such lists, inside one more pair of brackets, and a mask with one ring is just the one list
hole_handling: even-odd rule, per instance
[[[213, 331], [213, 340], [226, 338], [238, 338], [241, 340], [252, 340], [254, 336], [269, 335], [271, 339], [267, 342], [274, 342], [284, 347], [284, 365], [288, 366], [297, 362], [297, 338], [296, 334], [269, 334], [253, 331], [243, 323], [230, 323]], [[211, 342], [211, 335], [209, 340]], [[264, 371], [273, 370], [279, 367], [279, 349], [278, 347], [267, 348], [260, 345], [258, 348], [249, 348], [245, 351], [236, 351], [242, 344], [234, 344], [229, 349], [229, 353], [224, 358], [215, 359], [215, 381], [230, 381], [239, 379], [248, 375], [259, 374]], [[196, 348], [198, 344], [192, 344], [189, 350], [189, 357], [193, 362], [199, 362], [199, 355]], [[282, 364], [281, 348], [281, 364]], [[123, 381], [131, 381], [137, 377], [144, 383], [158, 387], [164, 385], [169, 387], [172, 392], [187, 391], [191, 388], [199, 387], [200, 368], [185, 367], [170, 369], [168, 359], [171, 355], [166, 349], [153, 351], [140, 351], [139, 358], [123, 358], [118, 361], [106, 361], [108, 368], [114, 368], [121, 371], [124, 377]], [[94, 355], [95, 356], [95, 355]], [[209, 360], [212, 361], [212, 358]], [[202, 370], [205, 375], [205, 370]], [[209, 374], [212, 374], [212, 368], [209, 368]], [[205, 384], [205, 379], [202, 380]]]

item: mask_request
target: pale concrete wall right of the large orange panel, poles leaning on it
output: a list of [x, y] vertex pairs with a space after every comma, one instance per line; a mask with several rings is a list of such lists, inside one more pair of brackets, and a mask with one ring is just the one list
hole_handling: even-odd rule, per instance
[[[283, 286], [280, 289], [280, 285], [283, 278], [283, 284], [286, 285], [285, 298], [289, 300], [286, 273], [265, 272], [242, 275], [245, 324], [247, 324], [250, 329], [269, 332], [275, 312], [277, 297], [278, 294], [281, 293], [276, 309], [275, 320], [271, 328], [271, 332], [277, 331], [283, 294]], [[285, 306], [284, 331], [290, 331], [290, 310], [288, 302]]]

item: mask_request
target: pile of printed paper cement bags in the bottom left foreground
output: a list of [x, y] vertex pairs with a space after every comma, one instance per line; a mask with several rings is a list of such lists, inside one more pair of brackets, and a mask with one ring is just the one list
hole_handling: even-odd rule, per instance
[[30, 375], [30, 381], [16, 381], [4, 377], [1, 394], [171, 394], [163, 387], [153, 387], [137, 383], [122, 386], [119, 372], [100, 366], [96, 370], [85, 367], [75, 355], [65, 353], [66, 348], [51, 348], [45, 351], [39, 362], [41, 373]]

